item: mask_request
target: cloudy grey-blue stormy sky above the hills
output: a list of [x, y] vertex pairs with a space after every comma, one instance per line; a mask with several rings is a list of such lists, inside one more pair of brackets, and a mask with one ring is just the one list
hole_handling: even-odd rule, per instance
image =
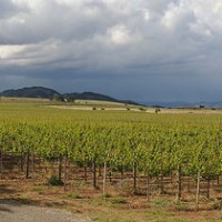
[[222, 100], [221, 0], [0, 0], [0, 91]]

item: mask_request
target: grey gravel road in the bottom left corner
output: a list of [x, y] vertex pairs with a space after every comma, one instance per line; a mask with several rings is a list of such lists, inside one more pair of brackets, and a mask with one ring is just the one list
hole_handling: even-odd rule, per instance
[[90, 222], [90, 220], [63, 210], [0, 201], [0, 222]]

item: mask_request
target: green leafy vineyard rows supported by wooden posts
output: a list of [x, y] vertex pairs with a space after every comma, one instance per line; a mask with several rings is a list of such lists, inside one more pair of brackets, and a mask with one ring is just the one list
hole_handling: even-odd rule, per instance
[[78, 179], [108, 196], [111, 182], [128, 181], [130, 192], [148, 201], [157, 192], [176, 201], [191, 192], [196, 209], [200, 195], [219, 200], [221, 208], [221, 114], [71, 111], [38, 104], [0, 109], [1, 180], [12, 172], [29, 180], [50, 171], [64, 190]]

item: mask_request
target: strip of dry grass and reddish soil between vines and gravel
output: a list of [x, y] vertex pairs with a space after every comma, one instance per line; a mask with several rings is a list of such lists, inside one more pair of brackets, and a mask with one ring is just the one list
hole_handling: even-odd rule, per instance
[[[68, 188], [49, 186], [36, 180], [0, 181], [0, 199], [18, 200], [27, 204], [48, 205], [67, 209], [73, 213], [89, 215], [92, 221], [108, 222], [190, 222], [222, 220], [222, 212], [209, 206], [195, 212], [186, 203], [175, 203], [173, 196], [155, 195], [148, 202], [145, 196], [124, 195], [113, 188], [108, 188], [110, 198], [104, 198], [101, 190], [93, 190], [90, 184]], [[209, 205], [209, 204], [208, 204]]]

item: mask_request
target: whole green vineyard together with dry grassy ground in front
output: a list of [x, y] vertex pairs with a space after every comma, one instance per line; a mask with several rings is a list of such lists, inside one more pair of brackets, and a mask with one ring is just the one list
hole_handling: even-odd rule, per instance
[[1, 102], [0, 199], [92, 221], [221, 221], [222, 114], [190, 112]]

